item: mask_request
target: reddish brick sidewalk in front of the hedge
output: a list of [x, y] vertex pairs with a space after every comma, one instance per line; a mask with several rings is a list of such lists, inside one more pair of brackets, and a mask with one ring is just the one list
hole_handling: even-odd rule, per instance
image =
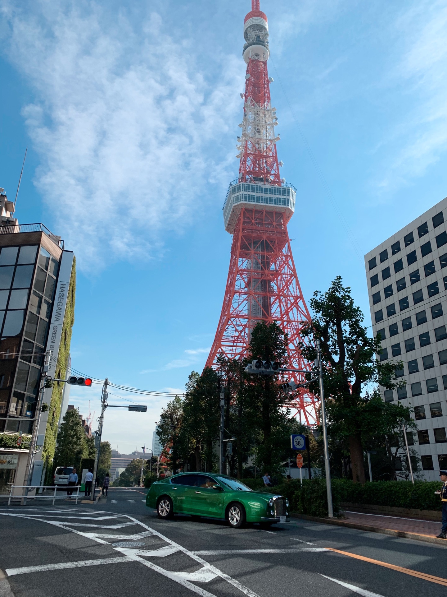
[[369, 531], [370, 533], [383, 533], [395, 537], [425, 541], [426, 543], [436, 543], [447, 547], [446, 539], [436, 538], [436, 535], [441, 530], [439, 522], [349, 511], [344, 512], [344, 518], [319, 518], [317, 516], [294, 513], [291, 516], [293, 518], [302, 518], [324, 524], [333, 524], [339, 527], [357, 528], [361, 531]]

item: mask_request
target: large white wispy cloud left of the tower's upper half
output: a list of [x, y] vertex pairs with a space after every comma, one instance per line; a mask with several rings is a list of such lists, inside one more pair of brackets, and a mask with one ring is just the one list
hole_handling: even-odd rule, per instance
[[137, 26], [88, 0], [0, 6], [4, 48], [35, 92], [23, 115], [55, 229], [85, 270], [157, 256], [206, 183], [223, 192], [231, 178], [231, 143], [218, 141], [240, 111], [240, 60], [213, 57], [217, 68], [201, 72], [157, 13]]

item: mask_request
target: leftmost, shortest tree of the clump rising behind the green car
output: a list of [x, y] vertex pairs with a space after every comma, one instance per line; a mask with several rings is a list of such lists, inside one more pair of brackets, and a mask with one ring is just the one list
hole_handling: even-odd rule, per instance
[[167, 458], [168, 466], [175, 475], [182, 463], [182, 455], [185, 449], [182, 445], [184, 435], [181, 433], [183, 417], [183, 401], [180, 396], [168, 402], [166, 408], [163, 408], [160, 414], [160, 420], [157, 425], [157, 435], [160, 439], [160, 445], [163, 446], [163, 455]]

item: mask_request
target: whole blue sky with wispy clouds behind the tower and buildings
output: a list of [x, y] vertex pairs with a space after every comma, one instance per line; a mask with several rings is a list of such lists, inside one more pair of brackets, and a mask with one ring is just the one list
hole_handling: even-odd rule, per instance
[[[15, 194], [29, 146], [17, 216], [75, 251], [77, 370], [168, 391], [203, 367], [228, 272], [222, 204], [238, 171], [249, 9], [0, 0], [0, 186]], [[370, 325], [358, 254], [447, 195], [447, 1], [261, 9], [303, 293], [340, 274]], [[70, 402], [98, 413], [99, 395]], [[106, 415], [104, 438], [123, 453], [151, 442], [166, 401], [145, 402], [145, 415]]]

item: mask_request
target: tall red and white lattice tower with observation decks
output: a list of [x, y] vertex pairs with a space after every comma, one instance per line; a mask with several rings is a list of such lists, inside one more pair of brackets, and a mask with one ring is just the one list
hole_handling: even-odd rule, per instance
[[[244, 118], [237, 138], [239, 178], [230, 183], [224, 204], [225, 230], [233, 236], [228, 280], [218, 330], [206, 367], [216, 358], [246, 356], [256, 323], [277, 321], [288, 334], [291, 369], [310, 370], [298, 344], [300, 330], [309, 321], [293, 261], [287, 222], [295, 209], [296, 189], [280, 177], [277, 112], [270, 101], [267, 17], [252, 0], [244, 20], [243, 57], [247, 63]], [[297, 383], [300, 374], [287, 374]], [[290, 404], [305, 424], [316, 422], [316, 398], [306, 389], [296, 390]]]

